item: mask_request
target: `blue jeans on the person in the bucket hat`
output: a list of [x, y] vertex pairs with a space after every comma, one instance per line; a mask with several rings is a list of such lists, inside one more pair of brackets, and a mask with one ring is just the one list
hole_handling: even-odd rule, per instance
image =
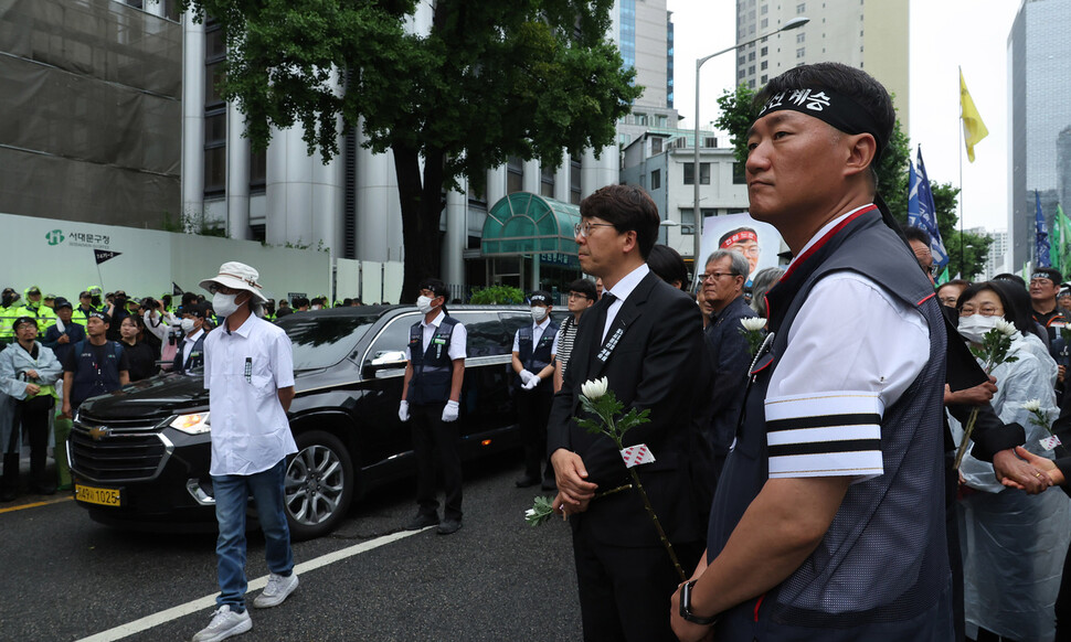
[[256, 502], [257, 517], [264, 531], [264, 557], [268, 570], [290, 575], [294, 555], [290, 552], [290, 531], [283, 512], [283, 478], [286, 460], [255, 474], [212, 475], [215, 492], [215, 520], [220, 538], [215, 543], [220, 579], [219, 606], [232, 611], [245, 610], [245, 507], [248, 496]]

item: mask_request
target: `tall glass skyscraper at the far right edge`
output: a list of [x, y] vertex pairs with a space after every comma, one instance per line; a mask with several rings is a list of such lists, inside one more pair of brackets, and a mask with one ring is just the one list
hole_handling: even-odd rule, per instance
[[1025, 0], [1008, 34], [1011, 136], [1008, 265], [1036, 261], [1035, 190], [1048, 228], [1056, 204], [1071, 202], [1071, 40], [1063, 25], [1071, 0]]

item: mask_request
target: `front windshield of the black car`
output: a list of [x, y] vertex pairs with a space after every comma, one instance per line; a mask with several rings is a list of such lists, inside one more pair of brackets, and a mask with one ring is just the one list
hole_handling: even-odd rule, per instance
[[294, 344], [294, 370], [332, 366], [346, 359], [378, 315], [310, 317], [301, 313], [279, 319]]

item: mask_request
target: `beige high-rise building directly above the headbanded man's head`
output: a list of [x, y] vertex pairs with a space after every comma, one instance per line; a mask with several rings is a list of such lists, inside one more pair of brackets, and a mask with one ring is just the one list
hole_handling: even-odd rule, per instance
[[867, 71], [893, 95], [908, 122], [909, 0], [736, 0], [736, 42], [805, 15], [799, 29], [736, 51], [736, 83], [756, 89], [792, 67], [838, 62]]

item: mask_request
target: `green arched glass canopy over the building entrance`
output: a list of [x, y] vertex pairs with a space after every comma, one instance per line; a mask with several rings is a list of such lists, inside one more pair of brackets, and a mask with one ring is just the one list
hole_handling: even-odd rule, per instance
[[484, 256], [576, 256], [573, 227], [577, 223], [576, 205], [531, 192], [515, 192], [487, 213], [480, 250]]

